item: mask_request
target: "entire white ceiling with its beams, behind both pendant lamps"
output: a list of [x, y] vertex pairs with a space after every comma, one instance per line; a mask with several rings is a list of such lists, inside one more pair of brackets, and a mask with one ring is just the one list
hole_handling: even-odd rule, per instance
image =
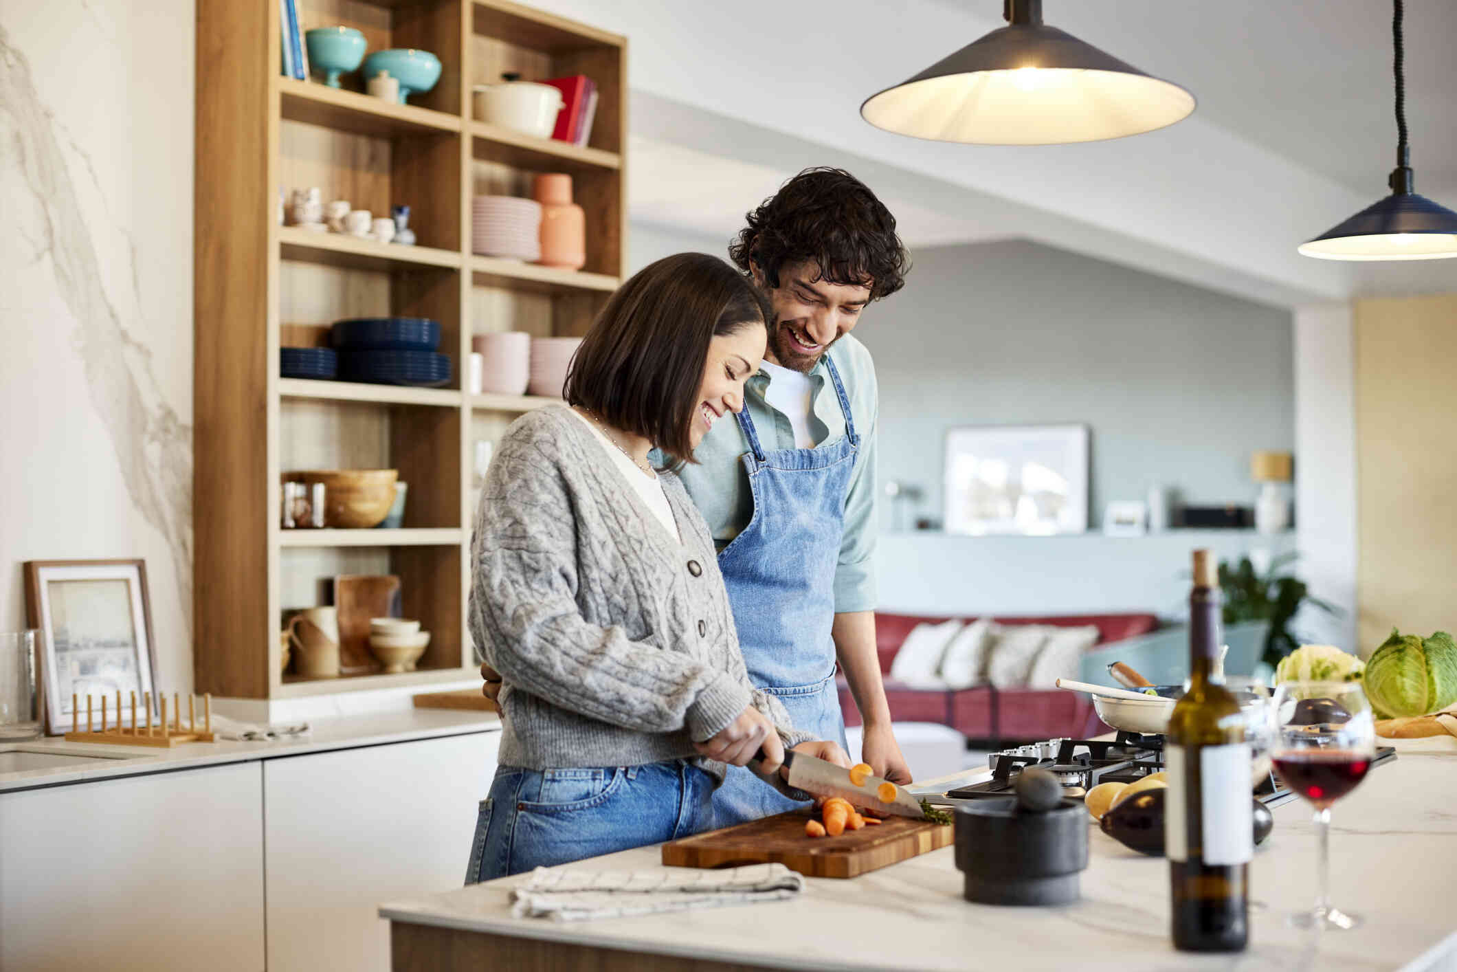
[[[634, 219], [726, 236], [806, 165], [844, 165], [912, 246], [1020, 236], [1253, 300], [1457, 289], [1457, 261], [1295, 254], [1384, 194], [1389, 0], [1046, 0], [1061, 26], [1186, 85], [1195, 115], [1084, 146], [871, 128], [860, 102], [1002, 23], [1001, 0], [535, 0], [631, 39]], [[1418, 191], [1457, 207], [1457, 0], [1407, 0]]]

